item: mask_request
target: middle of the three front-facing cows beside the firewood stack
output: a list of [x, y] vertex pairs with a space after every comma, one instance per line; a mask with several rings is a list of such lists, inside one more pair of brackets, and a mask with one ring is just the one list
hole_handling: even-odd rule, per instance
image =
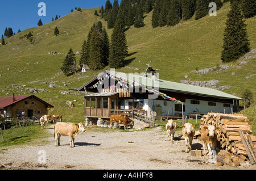
[[185, 138], [186, 153], [191, 151], [191, 145], [195, 132], [195, 125], [192, 125], [191, 123], [185, 123], [182, 127], [182, 134], [183, 137]]

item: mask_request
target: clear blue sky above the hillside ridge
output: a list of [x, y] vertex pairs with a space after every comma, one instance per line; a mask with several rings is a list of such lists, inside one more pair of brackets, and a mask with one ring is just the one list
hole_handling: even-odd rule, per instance
[[[46, 3], [46, 16], [39, 16], [38, 4]], [[114, 0], [110, 0], [114, 2]], [[119, 0], [121, 2], [121, 0]], [[91, 9], [93, 7], [105, 7], [106, 0], [1, 0], [0, 10], [0, 38], [5, 28], [11, 27], [15, 33], [27, 28], [37, 27], [39, 19], [43, 24], [50, 23], [56, 15], [64, 16], [75, 10], [75, 7]]]

